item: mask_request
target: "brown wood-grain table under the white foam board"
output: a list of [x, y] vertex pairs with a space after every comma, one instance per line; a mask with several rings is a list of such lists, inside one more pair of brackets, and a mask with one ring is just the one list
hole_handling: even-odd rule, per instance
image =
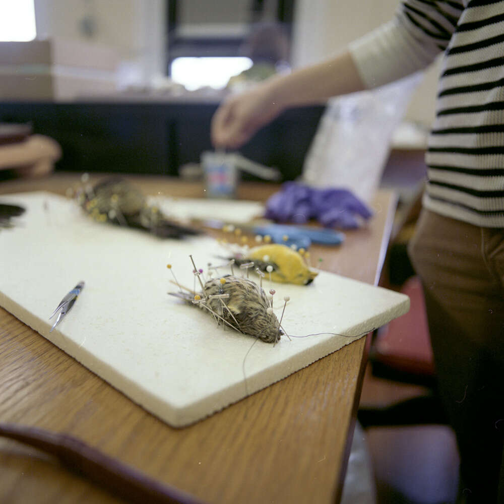
[[[148, 194], [204, 194], [198, 183], [130, 178]], [[77, 180], [75, 174], [55, 174], [3, 182], [0, 194], [65, 194]], [[264, 200], [276, 190], [274, 185], [243, 183], [239, 197]], [[379, 192], [367, 227], [348, 232], [340, 248], [313, 246], [312, 258], [323, 259], [322, 269], [376, 284], [395, 204], [392, 193]], [[361, 338], [206, 420], [174, 429], [0, 308], [0, 421], [74, 435], [204, 502], [338, 502], [365, 348], [366, 338]], [[0, 501], [121, 500], [51, 457], [0, 438]]]

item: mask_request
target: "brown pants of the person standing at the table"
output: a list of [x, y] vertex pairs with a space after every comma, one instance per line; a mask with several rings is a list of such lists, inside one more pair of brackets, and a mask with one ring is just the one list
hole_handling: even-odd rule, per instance
[[423, 210], [409, 253], [423, 283], [439, 393], [457, 435], [460, 498], [502, 502], [504, 229]]

